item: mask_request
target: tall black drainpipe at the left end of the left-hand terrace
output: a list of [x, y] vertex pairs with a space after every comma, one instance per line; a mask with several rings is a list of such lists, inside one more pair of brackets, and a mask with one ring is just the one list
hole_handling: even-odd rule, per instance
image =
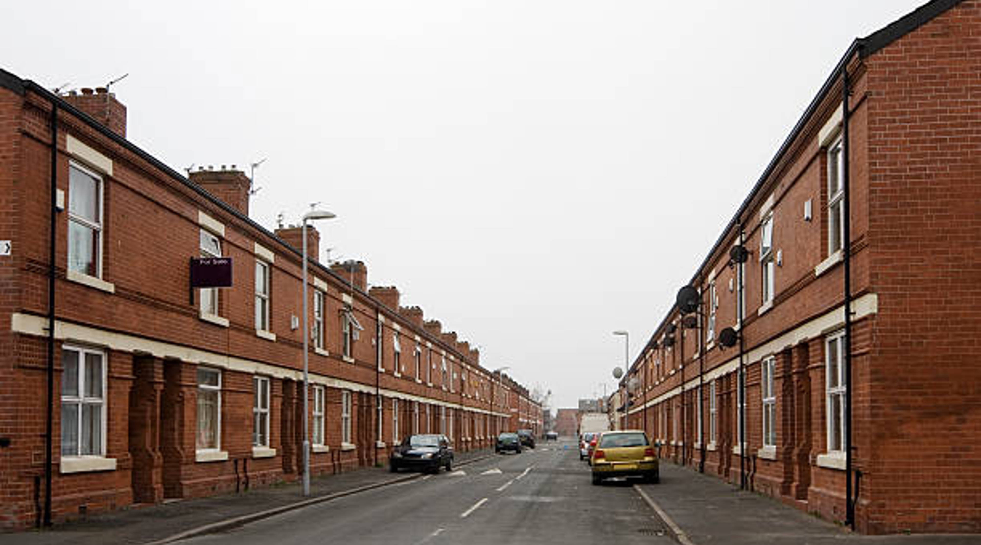
[[44, 430], [44, 525], [51, 525], [52, 428], [55, 391], [55, 246], [58, 211], [58, 103], [51, 102], [51, 240], [48, 245], [48, 407]]

